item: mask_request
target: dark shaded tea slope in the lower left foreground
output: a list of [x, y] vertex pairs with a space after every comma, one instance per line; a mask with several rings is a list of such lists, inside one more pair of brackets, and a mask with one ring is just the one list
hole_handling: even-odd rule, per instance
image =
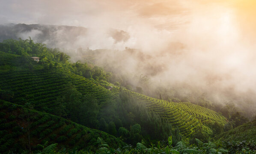
[[[65, 145], [65, 147], [95, 150], [98, 137], [103, 138], [110, 147], [125, 145], [121, 140], [103, 131], [90, 129], [48, 113], [27, 110], [30, 117], [33, 117], [31, 119], [34, 119], [30, 129], [32, 149], [37, 144], [49, 141], [50, 144], [59, 143], [59, 147]], [[18, 152], [28, 145], [25, 125], [27, 119], [25, 118], [24, 121], [21, 115], [24, 115], [21, 106], [0, 100], [0, 153]]]

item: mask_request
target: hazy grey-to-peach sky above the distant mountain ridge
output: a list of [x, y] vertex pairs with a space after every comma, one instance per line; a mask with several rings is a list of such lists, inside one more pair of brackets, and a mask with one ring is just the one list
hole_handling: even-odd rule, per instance
[[212, 0], [214, 3], [209, 3], [208, 0], [191, 1], [0, 0], [0, 22], [119, 29], [145, 23], [169, 30], [188, 22], [188, 15], [201, 9], [200, 7], [212, 5], [218, 0]]

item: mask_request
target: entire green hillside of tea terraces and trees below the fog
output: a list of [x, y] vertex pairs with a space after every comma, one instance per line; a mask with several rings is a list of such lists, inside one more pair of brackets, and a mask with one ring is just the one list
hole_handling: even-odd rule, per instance
[[69, 59], [31, 38], [0, 43], [0, 153], [256, 151], [255, 121], [232, 102], [213, 107], [204, 96], [191, 102], [162, 89], [155, 97], [94, 61]]

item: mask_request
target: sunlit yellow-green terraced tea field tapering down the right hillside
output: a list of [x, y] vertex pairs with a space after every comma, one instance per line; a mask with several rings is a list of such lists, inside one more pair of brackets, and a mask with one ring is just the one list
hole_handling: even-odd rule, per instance
[[[117, 93], [118, 89], [113, 89], [113, 92]], [[174, 126], [178, 126], [181, 133], [185, 136], [191, 135], [194, 130], [205, 124], [206, 121], [226, 123], [225, 117], [205, 107], [191, 103], [159, 100], [128, 90], [126, 92], [138, 102], [146, 104], [146, 107], [152, 112], [158, 113]]]

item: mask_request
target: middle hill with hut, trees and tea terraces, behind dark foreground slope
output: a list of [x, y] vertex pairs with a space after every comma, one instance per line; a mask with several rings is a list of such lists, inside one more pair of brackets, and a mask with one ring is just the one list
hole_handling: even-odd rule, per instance
[[[31, 59], [32, 56], [40, 57], [39, 62]], [[148, 144], [156, 143], [170, 135], [174, 145], [182, 138], [191, 143], [195, 138], [206, 142], [210, 136], [223, 131], [226, 118], [219, 113], [191, 103], [164, 101], [129, 91], [109, 83], [112, 74], [103, 68], [89, 63], [71, 63], [68, 58], [65, 53], [31, 39], [3, 41], [0, 43], [0, 99], [102, 130], [132, 145], [142, 139]], [[5, 115], [6, 110], [9, 109], [2, 111], [3, 117], [9, 117]], [[8, 122], [3, 120], [3, 124], [8, 125]], [[1, 134], [14, 131], [6, 130], [12, 127], [18, 129], [19, 126], [12, 123], [3, 127]], [[71, 131], [67, 129], [65, 131]], [[32, 137], [51, 130], [54, 131], [42, 127]], [[25, 136], [25, 132], [20, 135], [22, 133]], [[56, 140], [40, 135], [39, 141], [42, 144], [46, 141], [68, 143], [69, 148], [75, 147], [75, 136], [68, 137], [74, 138], [74, 142], [69, 144], [70, 140], [65, 137]], [[12, 141], [18, 142], [17, 139]], [[27, 139], [23, 142], [26, 148]], [[9, 146], [12, 145], [15, 144]]]

